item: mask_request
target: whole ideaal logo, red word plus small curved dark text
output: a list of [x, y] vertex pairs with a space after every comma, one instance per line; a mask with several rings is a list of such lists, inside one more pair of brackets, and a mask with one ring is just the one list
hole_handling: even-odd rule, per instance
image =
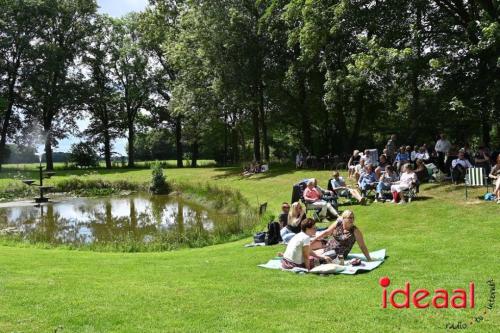
[[[380, 278], [380, 286], [382, 289], [382, 308], [387, 309], [388, 304], [391, 304], [396, 309], [409, 308], [410, 302], [418, 309], [425, 309], [430, 306], [436, 309], [449, 308], [455, 309], [474, 309], [475, 307], [475, 284], [470, 282], [468, 288], [453, 289], [448, 292], [446, 289], [435, 289], [431, 293], [427, 289], [419, 288], [412, 292], [411, 284], [405, 283], [405, 287], [394, 289], [389, 294], [387, 287], [390, 286], [391, 280], [388, 277]], [[488, 312], [491, 312], [495, 306], [496, 285], [493, 279], [486, 282], [489, 288], [488, 302], [479, 315], [472, 317], [465, 322], [446, 323], [446, 329], [467, 329], [474, 324], [480, 323], [485, 319]], [[403, 296], [403, 301], [398, 303], [395, 298], [397, 295]], [[451, 298], [450, 298], [451, 295]]]

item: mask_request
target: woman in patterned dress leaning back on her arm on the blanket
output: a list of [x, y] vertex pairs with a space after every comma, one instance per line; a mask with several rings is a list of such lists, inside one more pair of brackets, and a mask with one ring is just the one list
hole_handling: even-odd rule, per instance
[[[331, 238], [324, 244], [322, 240], [327, 236], [331, 236]], [[331, 259], [335, 259], [339, 255], [347, 258], [356, 242], [358, 242], [359, 248], [365, 255], [366, 260], [371, 261], [372, 258], [366, 247], [363, 233], [354, 225], [354, 213], [350, 210], [345, 210], [342, 216], [332, 223], [328, 229], [319, 233], [311, 240], [311, 247], [317, 249], [316, 254], [324, 255]]]

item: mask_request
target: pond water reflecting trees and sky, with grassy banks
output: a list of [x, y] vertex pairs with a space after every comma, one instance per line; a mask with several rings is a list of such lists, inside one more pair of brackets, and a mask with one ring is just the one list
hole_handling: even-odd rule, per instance
[[[236, 214], [221, 214], [180, 196], [135, 194], [78, 198], [41, 206], [0, 207], [0, 235], [32, 243], [76, 247], [138, 244], [171, 249], [203, 246], [241, 233], [248, 225]], [[199, 243], [199, 244], [195, 244]], [[120, 245], [121, 244], [121, 245]]]

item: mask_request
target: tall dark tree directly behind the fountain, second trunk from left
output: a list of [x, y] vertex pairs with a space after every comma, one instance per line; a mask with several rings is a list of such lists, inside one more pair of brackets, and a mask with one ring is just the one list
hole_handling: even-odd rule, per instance
[[41, 124], [47, 169], [52, 170], [52, 146], [75, 128], [74, 111], [80, 110], [81, 76], [76, 59], [92, 33], [95, 0], [44, 0], [42, 25], [32, 41], [33, 69], [25, 73], [23, 107], [27, 120]]

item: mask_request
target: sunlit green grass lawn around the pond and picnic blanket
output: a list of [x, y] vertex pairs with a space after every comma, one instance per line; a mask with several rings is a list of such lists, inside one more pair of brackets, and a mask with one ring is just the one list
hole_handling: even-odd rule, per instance
[[[235, 168], [167, 169], [179, 182], [211, 182], [239, 189], [271, 211], [290, 200], [291, 185], [328, 171], [276, 167], [250, 178]], [[58, 171], [143, 182], [149, 170]], [[0, 174], [0, 189], [16, 174]], [[27, 177], [23, 173], [20, 177]], [[387, 249], [378, 269], [356, 276], [295, 275], [256, 267], [283, 246], [243, 248], [250, 239], [166, 253], [98, 253], [0, 246], [0, 332], [442, 332], [447, 323], [467, 332], [498, 332], [500, 305], [486, 311], [486, 281], [500, 281], [500, 205], [475, 190], [425, 185], [420, 199], [352, 206], [370, 250]], [[355, 248], [355, 251], [359, 251]], [[476, 284], [476, 308], [381, 309], [380, 277], [390, 290], [466, 288]], [[497, 297], [498, 298], [498, 297]]]

